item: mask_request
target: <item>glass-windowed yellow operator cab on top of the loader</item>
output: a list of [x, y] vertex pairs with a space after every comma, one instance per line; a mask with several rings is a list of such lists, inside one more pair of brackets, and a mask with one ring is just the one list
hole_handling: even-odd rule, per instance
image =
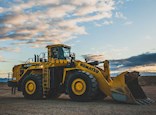
[[70, 57], [70, 46], [64, 44], [48, 45], [48, 60], [67, 60]]

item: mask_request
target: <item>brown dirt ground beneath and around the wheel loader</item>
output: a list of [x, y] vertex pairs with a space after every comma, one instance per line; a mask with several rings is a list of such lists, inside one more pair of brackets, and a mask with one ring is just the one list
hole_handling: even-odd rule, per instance
[[[156, 85], [142, 86], [148, 97], [156, 100]], [[93, 102], [73, 102], [66, 95], [56, 100], [26, 100], [20, 92], [0, 85], [0, 115], [156, 115], [156, 103], [133, 105], [111, 98]]]

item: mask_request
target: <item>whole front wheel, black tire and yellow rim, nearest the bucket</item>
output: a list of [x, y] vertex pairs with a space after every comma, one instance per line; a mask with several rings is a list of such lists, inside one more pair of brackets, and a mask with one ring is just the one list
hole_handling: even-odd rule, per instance
[[[78, 71], [69, 76], [66, 90], [74, 101], [91, 101], [97, 94], [98, 84], [91, 74]], [[76, 87], [78, 86], [78, 90]], [[82, 88], [82, 89], [81, 89]]]

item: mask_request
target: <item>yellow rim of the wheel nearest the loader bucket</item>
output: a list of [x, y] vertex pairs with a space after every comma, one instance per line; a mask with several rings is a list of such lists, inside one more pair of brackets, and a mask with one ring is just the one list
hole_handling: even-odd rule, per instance
[[76, 95], [82, 95], [86, 91], [86, 83], [83, 79], [75, 79], [72, 82], [72, 91]]

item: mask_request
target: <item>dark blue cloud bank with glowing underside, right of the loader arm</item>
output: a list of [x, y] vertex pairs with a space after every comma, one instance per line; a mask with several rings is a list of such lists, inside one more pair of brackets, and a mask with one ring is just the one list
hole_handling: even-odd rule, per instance
[[111, 70], [120, 73], [121, 71], [139, 71], [143, 74], [155, 73], [156, 75], [156, 53], [144, 53], [127, 59], [110, 60]]

